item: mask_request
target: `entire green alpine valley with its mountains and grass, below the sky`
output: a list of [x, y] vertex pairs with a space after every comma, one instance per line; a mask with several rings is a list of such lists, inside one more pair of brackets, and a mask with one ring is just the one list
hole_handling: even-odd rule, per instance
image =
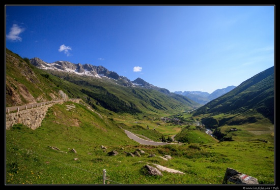
[[[47, 63], [6, 48], [6, 108], [64, 100], [37, 129], [6, 129], [6, 184], [102, 184], [105, 169], [106, 184], [218, 188], [235, 184], [224, 178], [232, 168], [275, 185], [274, 88], [274, 66], [215, 93], [170, 92], [102, 66]], [[140, 144], [125, 130], [170, 143]], [[146, 165], [165, 170], [150, 175]]]

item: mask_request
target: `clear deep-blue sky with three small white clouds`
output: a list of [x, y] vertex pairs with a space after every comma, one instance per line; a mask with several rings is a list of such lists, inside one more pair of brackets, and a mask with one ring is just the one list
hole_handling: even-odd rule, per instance
[[174, 91], [212, 93], [274, 66], [271, 6], [6, 5], [21, 57], [103, 66]]

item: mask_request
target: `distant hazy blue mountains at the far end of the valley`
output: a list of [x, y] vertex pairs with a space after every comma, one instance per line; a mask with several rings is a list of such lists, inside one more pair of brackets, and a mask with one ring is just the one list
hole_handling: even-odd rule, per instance
[[231, 91], [236, 86], [228, 86], [226, 88], [217, 89], [213, 91], [212, 93], [208, 92], [202, 92], [202, 91], [175, 91], [176, 94], [181, 94], [199, 104], [205, 105], [206, 103], [210, 102], [211, 100], [214, 100], [223, 94]]

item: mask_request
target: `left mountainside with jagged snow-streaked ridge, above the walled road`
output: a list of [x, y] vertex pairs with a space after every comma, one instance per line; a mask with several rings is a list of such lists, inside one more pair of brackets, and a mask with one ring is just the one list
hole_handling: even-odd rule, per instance
[[130, 81], [102, 66], [68, 61], [47, 64], [39, 58], [21, 58], [6, 49], [7, 107], [61, 99], [60, 91], [67, 98], [81, 98], [99, 111], [172, 114], [201, 106], [140, 78]]

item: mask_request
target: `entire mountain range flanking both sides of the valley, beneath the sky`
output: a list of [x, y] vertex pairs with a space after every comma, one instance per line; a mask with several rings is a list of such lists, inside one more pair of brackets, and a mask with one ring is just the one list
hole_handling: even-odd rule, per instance
[[[102, 66], [68, 61], [48, 64], [38, 57], [21, 58], [8, 49], [6, 73], [7, 107], [61, 99], [62, 91], [67, 98], [81, 98], [103, 113], [113, 111], [162, 117], [190, 112], [194, 120], [212, 130], [251, 123], [274, 124], [274, 66], [237, 87], [229, 86], [211, 94], [200, 91], [173, 93], [141, 78], [130, 81]], [[191, 94], [213, 100], [202, 105], [187, 97]]]

